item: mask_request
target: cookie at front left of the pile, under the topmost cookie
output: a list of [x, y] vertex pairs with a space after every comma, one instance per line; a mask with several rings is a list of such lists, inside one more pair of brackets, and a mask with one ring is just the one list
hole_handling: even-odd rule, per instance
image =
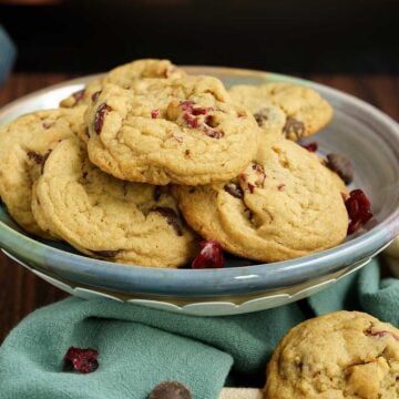
[[196, 252], [168, 187], [116, 180], [76, 137], [60, 142], [33, 187], [33, 214], [80, 252], [152, 267], [178, 267]]

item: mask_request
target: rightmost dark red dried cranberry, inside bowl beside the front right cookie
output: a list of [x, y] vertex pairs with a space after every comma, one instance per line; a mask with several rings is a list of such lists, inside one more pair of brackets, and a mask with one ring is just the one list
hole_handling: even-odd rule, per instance
[[345, 201], [345, 206], [350, 218], [348, 234], [356, 232], [361, 225], [372, 217], [370, 201], [359, 188], [352, 190], [349, 193], [349, 197]]

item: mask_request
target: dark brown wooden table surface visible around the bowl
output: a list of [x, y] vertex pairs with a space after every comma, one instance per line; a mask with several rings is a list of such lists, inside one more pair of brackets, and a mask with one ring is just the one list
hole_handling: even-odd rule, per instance
[[[34, 90], [73, 76], [59, 73], [14, 73], [0, 88], [0, 106]], [[303, 76], [354, 94], [399, 121], [399, 76], [319, 75]], [[0, 342], [23, 317], [68, 295], [41, 280], [0, 254]]]

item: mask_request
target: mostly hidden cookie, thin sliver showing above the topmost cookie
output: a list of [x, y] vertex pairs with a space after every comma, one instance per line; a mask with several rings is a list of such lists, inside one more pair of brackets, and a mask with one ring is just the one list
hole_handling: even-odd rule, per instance
[[61, 101], [60, 106], [72, 108], [76, 105], [88, 105], [92, 98], [106, 83], [116, 84], [123, 89], [129, 89], [132, 82], [144, 78], [182, 78], [185, 72], [178, 69], [168, 60], [144, 59], [135, 60], [124, 65], [120, 65], [108, 72], [103, 78], [94, 79], [86, 86], [71, 94]]

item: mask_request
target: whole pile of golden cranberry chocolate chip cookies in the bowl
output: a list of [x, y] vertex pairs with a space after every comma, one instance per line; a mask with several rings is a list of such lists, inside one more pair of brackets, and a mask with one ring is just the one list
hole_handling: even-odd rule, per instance
[[166, 60], [119, 66], [0, 130], [0, 195], [27, 232], [125, 264], [180, 267], [202, 238], [259, 262], [334, 247], [344, 182], [294, 141], [331, 106], [285, 83], [235, 86]]

